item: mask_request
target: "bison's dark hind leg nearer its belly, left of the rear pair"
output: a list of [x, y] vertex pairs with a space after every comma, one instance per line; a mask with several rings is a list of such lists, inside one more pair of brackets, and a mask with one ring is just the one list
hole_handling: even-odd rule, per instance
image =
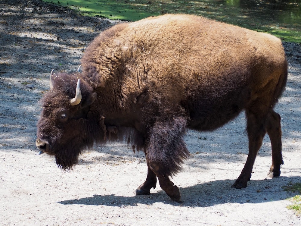
[[250, 111], [246, 111], [246, 115], [247, 133], [249, 138], [249, 154], [243, 170], [241, 171], [235, 183], [232, 185], [234, 188], [247, 187], [247, 182], [251, 178], [256, 155], [262, 145], [262, 140], [266, 133], [264, 117], [260, 117], [259, 115], [253, 114]]

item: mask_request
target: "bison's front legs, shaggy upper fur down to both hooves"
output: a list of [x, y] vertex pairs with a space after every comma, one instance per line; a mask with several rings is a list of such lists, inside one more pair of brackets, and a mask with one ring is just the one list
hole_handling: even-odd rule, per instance
[[148, 191], [151, 185], [154, 185], [155, 174], [158, 177], [160, 187], [166, 194], [171, 199], [180, 201], [180, 191], [169, 177], [176, 174], [181, 169], [183, 161], [189, 157], [183, 140], [185, 131], [185, 118], [174, 117], [164, 122], [154, 123], [149, 132], [146, 150], [147, 180], [139, 188]]

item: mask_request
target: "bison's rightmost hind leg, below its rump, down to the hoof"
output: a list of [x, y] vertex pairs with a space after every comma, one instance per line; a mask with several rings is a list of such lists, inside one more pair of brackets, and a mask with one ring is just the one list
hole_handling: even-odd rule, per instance
[[283, 165], [282, 143], [281, 143], [281, 118], [275, 111], [272, 111], [267, 120], [266, 130], [272, 145], [272, 166], [268, 172], [268, 177], [280, 176], [280, 166]]

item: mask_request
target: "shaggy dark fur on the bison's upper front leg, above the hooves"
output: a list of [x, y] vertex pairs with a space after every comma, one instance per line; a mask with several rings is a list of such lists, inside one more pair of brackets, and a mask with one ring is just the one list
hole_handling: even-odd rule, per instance
[[159, 167], [157, 170], [164, 177], [178, 173], [183, 161], [190, 156], [183, 140], [186, 124], [185, 118], [175, 117], [169, 121], [156, 122], [150, 131], [147, 162], [150, 166]]

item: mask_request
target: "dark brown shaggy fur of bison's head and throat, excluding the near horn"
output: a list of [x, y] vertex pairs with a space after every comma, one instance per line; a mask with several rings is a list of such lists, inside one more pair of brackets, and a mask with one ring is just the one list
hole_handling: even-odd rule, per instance
[[105, 125], [102, 109], [94, 104], [98, 93], [84, 79], [80, 80], [81, 102], [70, 105], [80, 73], [57, 73], [52, 77], [53, 89], [41, 100], [36, 144], [42, 143], [43, 152], [55, 155], [58, 167], [72, 170], [81, 152], [95, 143], [126, 140], [134, 152], [144, 149], [143, 136], [134, 128]]

